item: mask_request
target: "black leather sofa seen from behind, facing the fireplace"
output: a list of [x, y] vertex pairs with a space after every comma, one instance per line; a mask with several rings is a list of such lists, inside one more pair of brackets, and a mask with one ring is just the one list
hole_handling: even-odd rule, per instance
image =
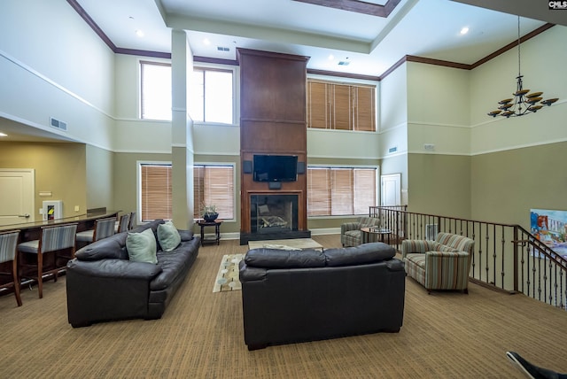
[[248, 350], [399, 332], [406, 273], [395, 253], [382, 243], [325, 251], [248, 251], [240, 262]]

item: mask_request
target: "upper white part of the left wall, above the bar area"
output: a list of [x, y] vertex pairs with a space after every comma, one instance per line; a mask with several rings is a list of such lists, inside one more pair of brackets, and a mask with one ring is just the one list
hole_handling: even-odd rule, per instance
[[0, 116], [112, 145], [114, 54], [66, 2], [0, 2]]

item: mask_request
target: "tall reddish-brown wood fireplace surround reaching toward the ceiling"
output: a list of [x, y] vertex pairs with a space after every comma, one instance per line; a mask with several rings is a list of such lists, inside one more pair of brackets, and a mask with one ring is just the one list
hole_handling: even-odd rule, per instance
[[[240, 166], [252, 165], [254, 154], [297, 155], [296, 182], [254, 182], [251, 170], [240, 170], [240, 244], [248, 241], [311, 236], [307, 229], [307, 60], [289, 54], [238, 49], [240, 65]], [[281, 197], [297, 202], [297, 220], [276, 205]], [[258, 203], [260, 199], [260, 204]], [[259, 208], [260, 207], [260, 208]], [[263, 212], [268, 212], [261, 214]], [[284, 215], [285, 214], [285, 215]], [[259, 227], [259, 220], [260, 225]], [[283, 223], [285, 222], [285, 226]], [[253, 226], [252, 226], [253, 224]], [[271, 226], [270, 226], [271, 225]]]

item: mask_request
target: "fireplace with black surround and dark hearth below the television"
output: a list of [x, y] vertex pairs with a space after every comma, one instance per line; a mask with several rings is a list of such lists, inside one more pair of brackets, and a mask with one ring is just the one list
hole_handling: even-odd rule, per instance
[[240, 234], [240, 244], [248, 241], [308, 238], [308, 230], [298, 230], [297, 194], [250, 195], [250, 233]]

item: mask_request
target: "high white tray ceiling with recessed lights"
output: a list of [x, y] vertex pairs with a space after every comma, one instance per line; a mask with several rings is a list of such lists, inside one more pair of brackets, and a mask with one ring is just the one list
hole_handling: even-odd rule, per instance
[[[406, 55], [472, 65], [517, 40], [517, 15], [522, 35], [547, 22], [567, 26], [567, 12], [533, 0], [69, 2], [79, 4], [119, 51], [170, 53], [171, 30], [179, 29], [198, 57], [234, 60], [237, 48], [268, 50], [310, 57], [308, 69], [374, 77]], [[353, 6], [362, 12], [347, 10]]]

